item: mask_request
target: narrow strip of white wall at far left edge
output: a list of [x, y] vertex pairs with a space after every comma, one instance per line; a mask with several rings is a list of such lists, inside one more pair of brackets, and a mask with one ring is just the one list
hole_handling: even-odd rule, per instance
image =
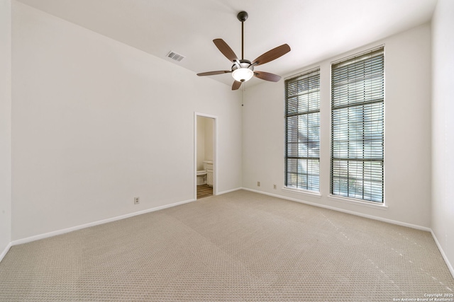
[[11, 0], [0, 0], [0, 260], [11, 241]]

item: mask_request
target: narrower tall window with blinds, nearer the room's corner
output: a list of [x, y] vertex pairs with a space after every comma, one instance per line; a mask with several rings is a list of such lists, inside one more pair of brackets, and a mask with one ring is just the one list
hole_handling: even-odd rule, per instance
[[320, 71], [285, 81], [285, 185], [320, 191]]

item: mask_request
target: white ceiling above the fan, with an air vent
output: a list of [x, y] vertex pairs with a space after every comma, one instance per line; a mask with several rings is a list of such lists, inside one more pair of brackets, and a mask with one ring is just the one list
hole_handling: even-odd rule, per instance
[[[196, 73], [231, 69], [212, 40], [245, 59], [287, 43], [292, 51], [256, 70], [284, 76], [431, 20], [436, 0], [18, 0]], [[184, 55], [181, 62], [166, 57]], [[229, 86], [231, 74], [210, 76]], [[253, 79], [250, 84], [260, 83]]]

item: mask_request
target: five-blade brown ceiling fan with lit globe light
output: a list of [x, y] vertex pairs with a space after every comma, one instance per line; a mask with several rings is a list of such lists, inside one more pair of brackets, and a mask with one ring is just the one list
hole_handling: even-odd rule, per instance
[[265, 52], [260, 57], [255, 59], [253, 62], [250, 62], [247, 59], [244, 59], [244, 21], [248, 20], [248, 13], [245, 11], [240, 11], [236, 16], [238, 20], [241, 22], [241, 59], [238, 59], [235, 52], [227, 45], [226, 42], [222, 39], [214, 39], [214, 45], [218, 47], [218, 50], [222, 52], [222, 54], [233, 62], [231, 70], [220, 70], [220, 71], [209, 71], [209, 72], [202, 72], [201, 74], [197, 74], [197, 76], [214, 76], [215, 74], [229, 74], [231, 73], [233, 79], [235, 81], [232, 85], [232, 90], [237, 90], [240, 88], [241, 84], [245, 81], [249, 81], [253, 76], [258, 79], [262, 79], [265, 81], [272, 81], [277, 82], [281, 79], [280, 76], [276, 74], [270, 74], [269, 72], [265, 71], [254, 71], [254, 67], [258, 65], [265, 64], [270, 62], [274, 59], [282, 57], [284, 54], [290, 51], [290, 47], [287, 44], [283, 44], [272, 50]]

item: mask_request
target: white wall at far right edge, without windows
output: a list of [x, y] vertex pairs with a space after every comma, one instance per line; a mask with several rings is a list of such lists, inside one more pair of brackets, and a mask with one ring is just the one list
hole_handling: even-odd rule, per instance
[[432, 20], [432, 230], [454, 276], [454, 1]]

